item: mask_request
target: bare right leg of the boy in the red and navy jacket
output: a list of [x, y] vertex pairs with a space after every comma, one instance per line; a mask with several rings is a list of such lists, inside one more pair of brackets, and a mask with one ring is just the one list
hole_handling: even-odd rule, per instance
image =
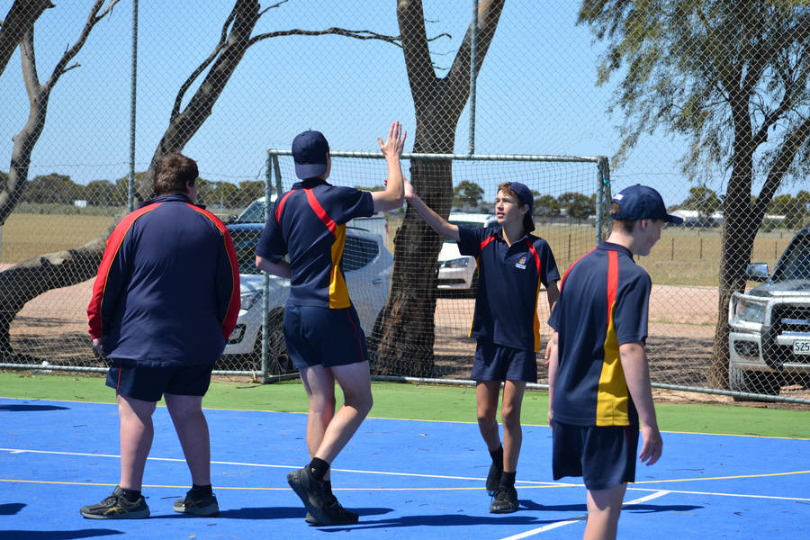
[[165, 394], [166, 408], [175, 424], [177, 438], [183, 447], [185, 463], [192, 482], [207, 486], [211, 483], [211, 438], [208, 421], [202, 412], [202, 396]]

